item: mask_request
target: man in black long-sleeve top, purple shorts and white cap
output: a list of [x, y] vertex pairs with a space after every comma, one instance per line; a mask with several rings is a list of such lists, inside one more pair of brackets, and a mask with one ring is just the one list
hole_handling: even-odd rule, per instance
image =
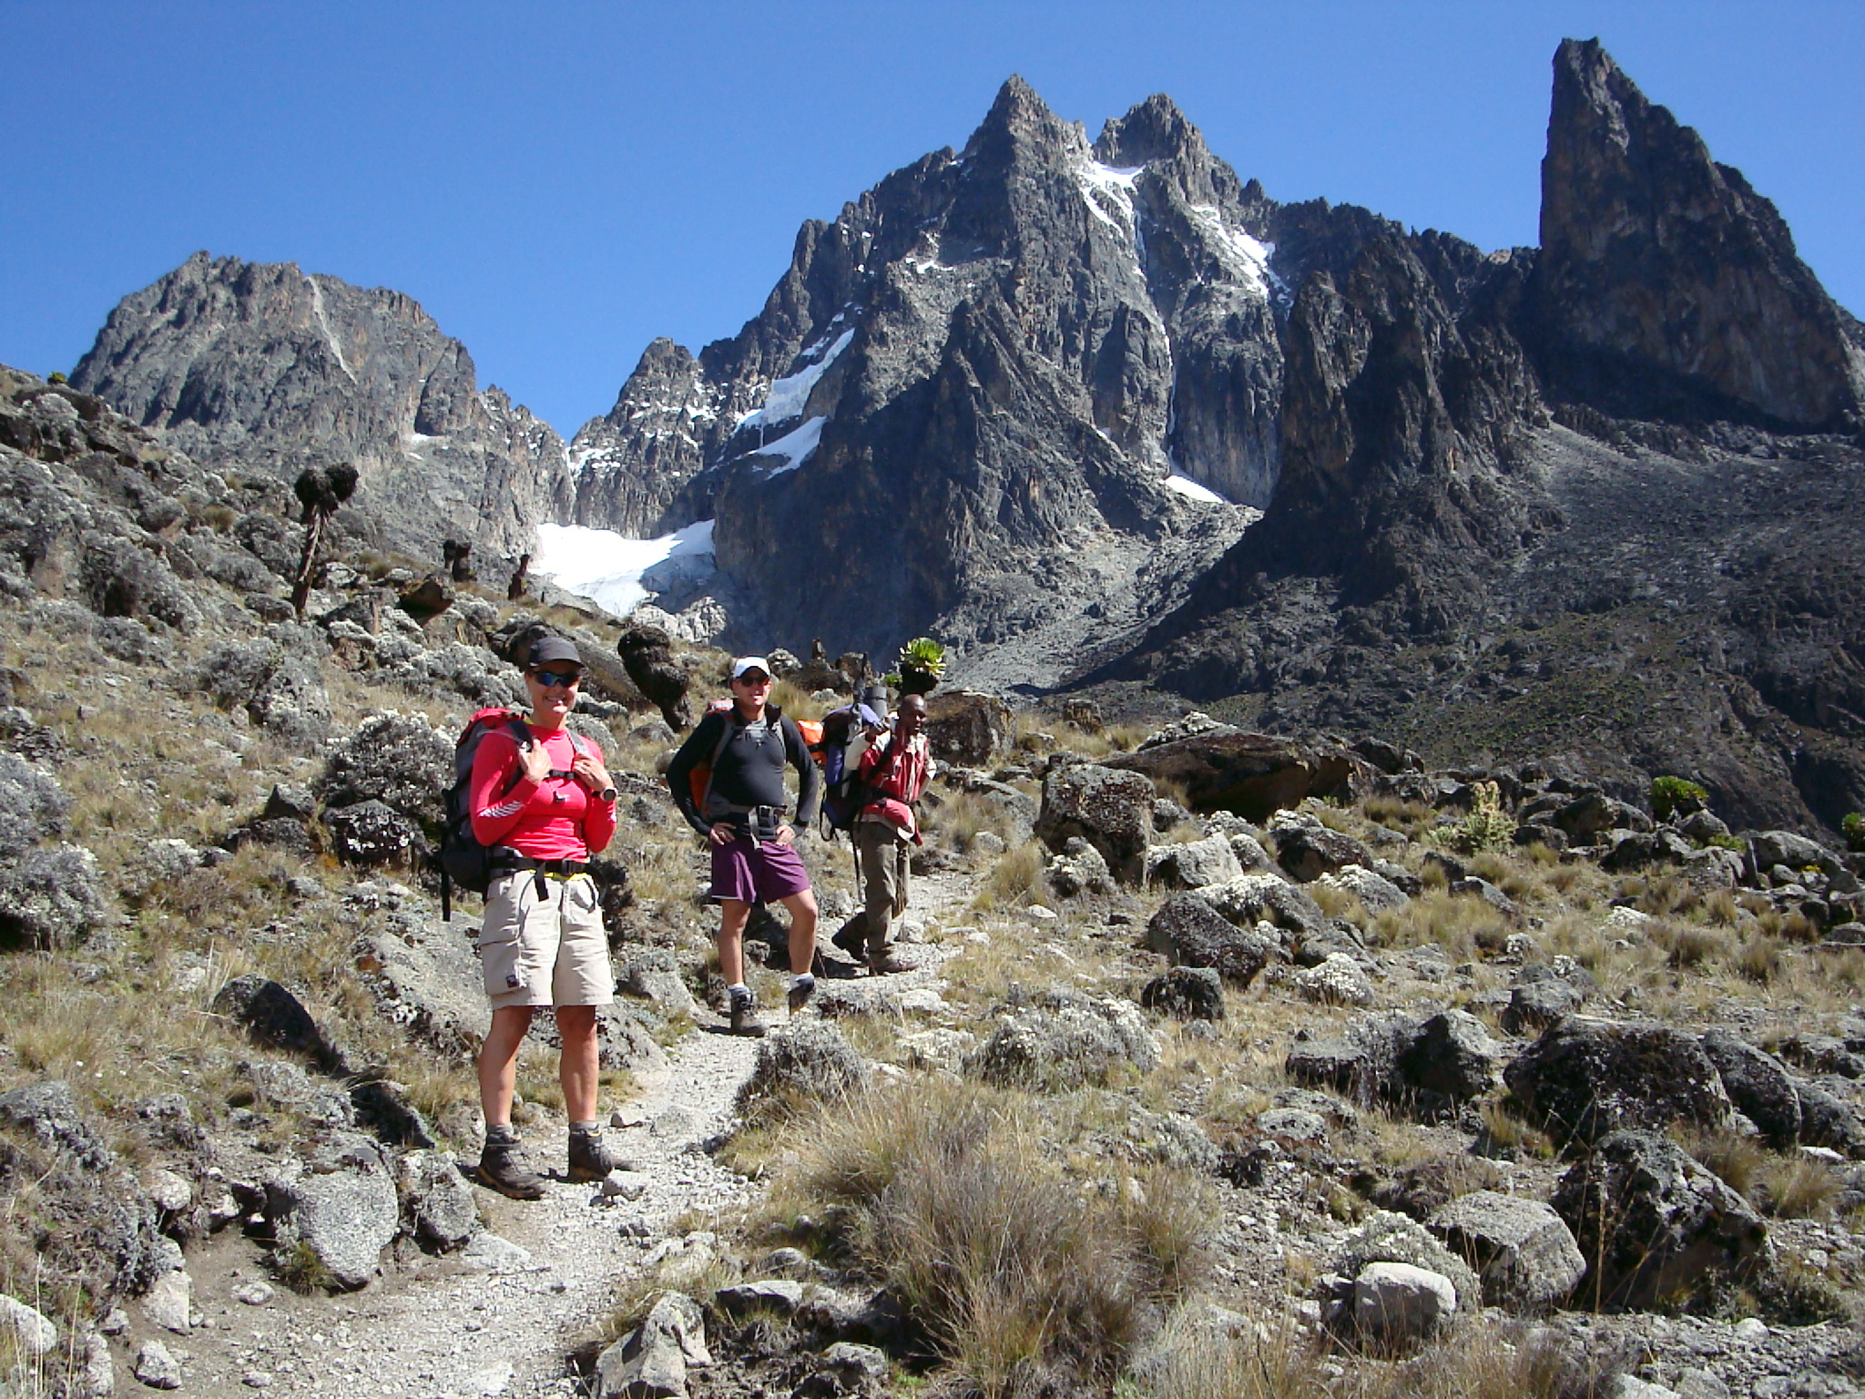
[[[696, 800], [694, 770], [711, 763]], [[802, 774], [796, 821], [785, 819], [783, 765]], [[809, 748], [796, 724], [770, 703], [770, 662], [731, 662], [731, 707], [699, 720], [668, 765], [668, 787], [686, 824], [712, 852], [711, 895], [720, 903], [718, 970], [725, 977], [731, 1033], [761, 1035], [757, 1002], [744, 981], [744, 923], [753, 903], [781, 903], [791, 914], [791, 994], [794, 1015], [815, 990], [815, 893], [796, 854], [796, 832], [815, 821], [822, 795]]]

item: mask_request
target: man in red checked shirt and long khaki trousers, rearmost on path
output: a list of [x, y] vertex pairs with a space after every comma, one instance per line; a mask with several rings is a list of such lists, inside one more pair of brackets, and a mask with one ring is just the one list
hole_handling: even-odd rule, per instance
[[871, 976], [905, 970], [893, 957], [888, 933], [893, 920], [906, 912], [912, 847], [921, 843], [916, 804], [932, 772], [925, 726], [925, 696], [906, 696], [893, 716], [893, 731], [867, 746], [858, 769], [865, 802], [852, 836], [862, 916], [836, 935], [836, 946], [854, 955], [865, 951]]

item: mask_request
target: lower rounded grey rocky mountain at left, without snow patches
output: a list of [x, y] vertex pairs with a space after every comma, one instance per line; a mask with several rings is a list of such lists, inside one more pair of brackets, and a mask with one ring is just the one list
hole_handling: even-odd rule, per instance
[[123, 298], [73, 384], [209, 466], [352, 461], [356, 519], [416, 556], [451, 537], [515, 558], [569, 509], [561, 438], [481, 394], [466, 347], [412, 298], [291, 263], [196, 254]]

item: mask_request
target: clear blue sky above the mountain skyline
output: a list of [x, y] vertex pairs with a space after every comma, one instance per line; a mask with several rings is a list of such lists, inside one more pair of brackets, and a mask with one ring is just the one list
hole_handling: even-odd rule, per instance
[[1167, 91], [1272, 198], [1537, 241], [1548, 60], [1598, 35], [1865, 313], [1865, 6], [0, 0], [0, 362], [71, 369], [196, 248], [407, 291], [569, 436], [737, 332], [804, 218], [1011, 73], [1089, 134]]

